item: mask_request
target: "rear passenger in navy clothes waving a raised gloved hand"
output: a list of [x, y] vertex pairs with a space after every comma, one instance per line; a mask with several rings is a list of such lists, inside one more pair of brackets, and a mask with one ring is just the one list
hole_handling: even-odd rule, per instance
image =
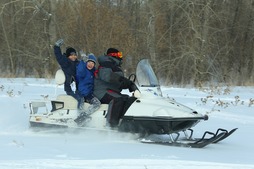
[[[65, 75], [65, 82], [64, 82], [64, 91], [67, 95], [74, 97], [78, 102], [80, 102], [80, 97], [77, 93], [77, 86], [76, 86], [76, 66], [79, 63], [77, 59], [76, 50], [72, 47], [68, 47], [66, 52], [62, 54], [61, 46], [63, 45], [64, 40], [59, 39], [56, 41], [54, 45], [54, 53], [57, 62], [61, 66], [64, 75]], [[73, 84], [73, 82], [75, 82]], [[72, 87], [72, 85], [74, 85]], [[73, 89], [72, 89], [73, 88]]]

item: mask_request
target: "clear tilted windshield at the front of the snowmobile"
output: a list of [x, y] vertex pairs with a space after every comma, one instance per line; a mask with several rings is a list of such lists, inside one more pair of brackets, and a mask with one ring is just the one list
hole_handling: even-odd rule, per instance
[[141, 60], [136, 69], [138, 84], [142, 87], [159, 86], [157, 77], [151, 67], [148, 59]]

